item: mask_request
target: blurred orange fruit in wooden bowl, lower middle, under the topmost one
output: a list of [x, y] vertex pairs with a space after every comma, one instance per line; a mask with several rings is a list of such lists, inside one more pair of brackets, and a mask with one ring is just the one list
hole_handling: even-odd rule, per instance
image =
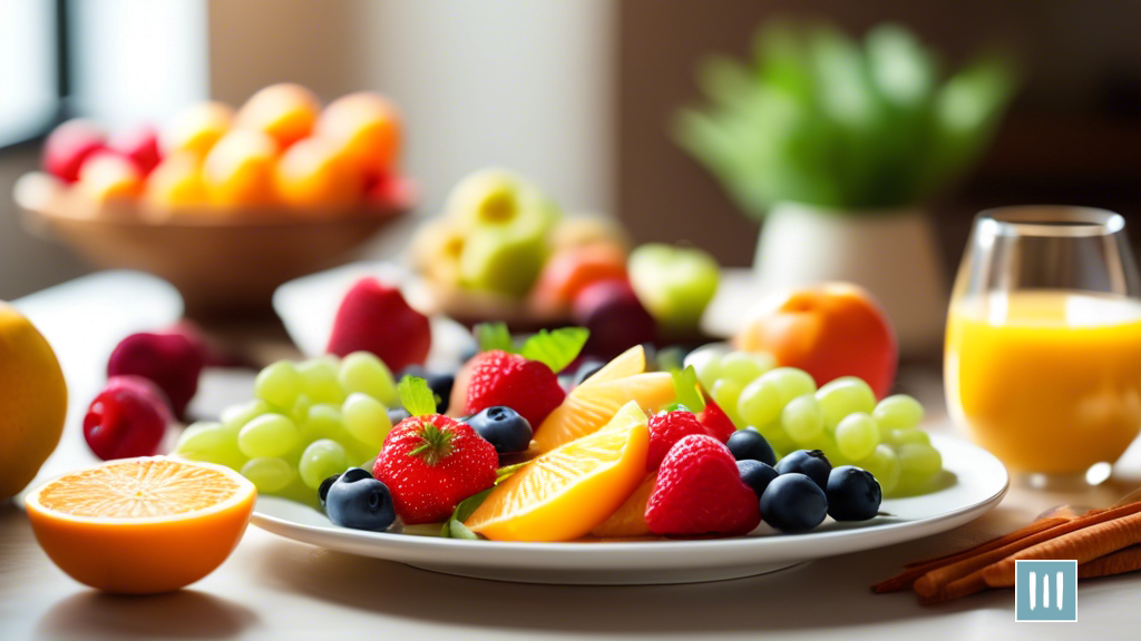
[[202, 184], [211, 204], [264, 206], [274, 202], [277, 146], [259, 131], [226, 133], [202, 163]]

